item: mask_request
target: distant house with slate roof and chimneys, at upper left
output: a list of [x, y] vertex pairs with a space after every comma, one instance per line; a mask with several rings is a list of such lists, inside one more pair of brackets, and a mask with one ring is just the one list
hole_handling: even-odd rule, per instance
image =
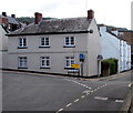
[[2, 24], [7, 31], [14, 31], [21, 27], [20, 22], [16, 19], [16, 14], [11, 17], [7, 16], [7, 12], [0, 14], [0, 24]]

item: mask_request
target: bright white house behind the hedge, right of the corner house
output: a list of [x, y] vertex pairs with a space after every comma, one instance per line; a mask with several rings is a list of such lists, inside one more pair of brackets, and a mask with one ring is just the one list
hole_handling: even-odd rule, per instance
[[130, 70], [131, 44], [120, 39], [120, 33], [116, 29], [109, 30], [106, 25], [100, 25], [100, 33], [103, 59], [117, 59], [119, 72]]

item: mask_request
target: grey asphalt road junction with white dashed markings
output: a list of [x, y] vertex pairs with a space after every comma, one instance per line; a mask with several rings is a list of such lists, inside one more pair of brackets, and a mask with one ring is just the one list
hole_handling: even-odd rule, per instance
[[131, 85], [130, 72], [95, 81], [4, 71], [2, 110], [120, 111]]

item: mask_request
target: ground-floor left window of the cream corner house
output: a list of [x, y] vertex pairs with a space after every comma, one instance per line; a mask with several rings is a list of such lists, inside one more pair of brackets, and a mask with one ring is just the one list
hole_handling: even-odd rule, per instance
[[18, 58], [18, 68], [28, 68], [28, 58], [27, 56], [19, 56]]

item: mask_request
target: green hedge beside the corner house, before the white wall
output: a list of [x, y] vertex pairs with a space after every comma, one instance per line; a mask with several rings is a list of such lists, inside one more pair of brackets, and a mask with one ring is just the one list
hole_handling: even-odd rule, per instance
[[112, 75], [117, 73], [117, 59], [105, 59], [101, 62], [101, 72], [103, 75]]

